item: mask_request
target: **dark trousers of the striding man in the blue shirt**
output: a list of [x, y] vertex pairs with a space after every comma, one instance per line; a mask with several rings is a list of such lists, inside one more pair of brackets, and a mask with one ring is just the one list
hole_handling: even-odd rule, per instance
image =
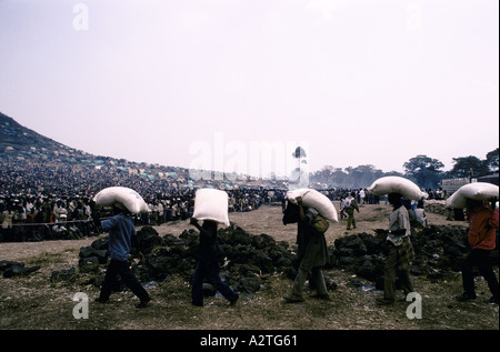
[[136, 294], [141, 302], [149, 299], [149, 293], [136, 279], [132, 271], [130, 270], [129, 263], [127, 261], [111, 260], [108, 269], [106, 271], [104, 282], [102, 283], [101, 294], [99, 299], [101, 301], [108, 301], [111, 295], [111, 290], [117, 283], [117, 275], [121, 276], [123, 283]]

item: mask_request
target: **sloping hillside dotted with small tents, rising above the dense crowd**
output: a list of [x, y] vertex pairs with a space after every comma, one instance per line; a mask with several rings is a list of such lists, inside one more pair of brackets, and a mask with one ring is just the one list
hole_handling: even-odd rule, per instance
[[[18, 123], [14, 119], [0, 112], [0, 167], [3, 172], [4, 182], [8, 177], [16, 180], [19, 170], [24, 170], [23, 178], [39, 178], [43, 174], [49, 177], [56, 169], [73, 170], [76, 177], [89, 171], [100, 170], [106, 174], [107, 179], [123, 179], [123, 175], [138, 177], [148, 184], [156, 184], [162, 189], [172, 185], [174, 188], [184, 189], [192, 188], [194, 183], [190, 179], [189, 170], [174, 165], [160, 165], [146, 162], [133, 162], [124, 159], [116, 159], [104, 155], [94, 155], [81, 150], [64, 145], [50, 138], [26, 128]], [[34, 169], [34, 170], [31, 170]], [[30, 172], [33, 171], [33, 172]], [[48, 172], [44, 172], [48, 170]], [[0, 172], [0, 174], [2, 174]], [[61, 175], [64, 179], [69, 175]], [[53, 180], [43, 180], [52, 183]], [[251, 181], [251, 182], [250, 182]], [[73, 182], [73, 181], [71, 181]], [[2, 191], [0, 182], [0, 193]], [[61, 183], [61, 182], [59, 182]], [[200, 180], [197, 187], [224, 187], [233, 188], [239, 185], [256, 185], [267, 183], [266, 180], [243, 180], [241, 182], [232, 182], [229, 180]], [[26, 182], [30, 184], [30, 182]], [[271, 184], [273, 184], [271, 182]]]

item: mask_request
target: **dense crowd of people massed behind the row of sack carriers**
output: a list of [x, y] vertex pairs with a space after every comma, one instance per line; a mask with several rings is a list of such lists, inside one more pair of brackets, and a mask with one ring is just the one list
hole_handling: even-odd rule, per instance
[[[40, 241], [78, 239], [99, 234], [96, 219], [109, 215], [96, 207], [92, 198], [100, 190], [129, 187], [139, 192], [151, 212], [136, 215], [137, 225], [162, 224], [192, 215], [196, 188], [176, 180], [148, 179], [107, 169], [71, 165], [2, 164], [0, 168], [0, 241]], [[214, 185], [217, 188], [217, 185]], [[239, 188], [226, 190], [229, 211], [251, 211], [263, 203], [286, 207], [286, 189]], [[378, 204], [381, 198], [367, 189], [329, 189], [323, 194], [332, 201], [354, 193], [359, 204]], [[428, 190], [429, 198], [442, 199], [439, 190]]]

